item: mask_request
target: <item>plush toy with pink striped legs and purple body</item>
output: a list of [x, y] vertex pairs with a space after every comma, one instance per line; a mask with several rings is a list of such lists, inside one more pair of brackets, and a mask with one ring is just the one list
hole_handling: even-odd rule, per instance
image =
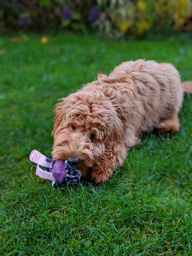
[[[31, 152], [29, 159], [37, 164], [36, 175], [52, 180], [52, 185], [55, 182], [76, 184], [80, 180], [80, 171], [67, 160], [50, 159], [37, 150]], [[41, 166], [46, 167], [46, 170]]]

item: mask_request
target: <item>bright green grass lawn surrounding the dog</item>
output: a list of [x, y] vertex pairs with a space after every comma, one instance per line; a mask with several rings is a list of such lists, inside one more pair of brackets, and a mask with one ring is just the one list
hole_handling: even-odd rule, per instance
[[192, 41], [10, 38], [0, 39], [0, 255], [191, 255], [190, 95], [180, 132], [144, 134], [103, 184], [87, 178], [52, 189], [35, 175], [29, 154], [50, 155], [57, 100], [122, 61], [171, 62], [182, 80], [192, 80]]

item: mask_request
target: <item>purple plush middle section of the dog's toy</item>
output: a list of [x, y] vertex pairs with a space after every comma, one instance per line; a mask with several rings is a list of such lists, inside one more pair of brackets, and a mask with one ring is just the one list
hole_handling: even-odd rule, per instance
[[65, 162], [64, 160], [55, 159], [52, 168], [49, 168], [50, 172], [52, 172], [55, 181], [59, 183], [63, 183], [66, 177], [66, 170], [65, 170]]

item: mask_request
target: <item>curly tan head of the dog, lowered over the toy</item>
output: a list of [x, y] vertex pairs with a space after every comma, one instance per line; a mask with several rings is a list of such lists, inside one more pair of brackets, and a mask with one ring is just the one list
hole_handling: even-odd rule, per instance
[[120, 142], [122, 123], [110, 99], [97, 90], [80, 90], [61, 100], [54, 110], [52, 156], [91, 167], [109, 141]]

